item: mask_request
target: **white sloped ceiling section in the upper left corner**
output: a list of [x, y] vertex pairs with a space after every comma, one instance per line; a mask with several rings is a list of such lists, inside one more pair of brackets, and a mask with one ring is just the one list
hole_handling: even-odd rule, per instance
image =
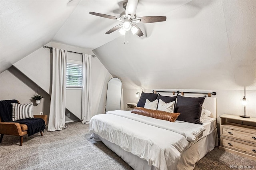
[[78, 3], [67, 2], [0, 1], [0, 73], [52, 40]]

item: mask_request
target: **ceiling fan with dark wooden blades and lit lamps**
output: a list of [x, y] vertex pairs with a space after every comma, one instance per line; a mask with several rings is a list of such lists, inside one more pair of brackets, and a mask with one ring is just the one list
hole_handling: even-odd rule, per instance
[[119, 32], [122, 35], [125, 35], [126, 32], [131, 30], [132, 34], [136, 34], [137, 36], [141, 37], [143, 36], [142, 31], [140, 28], [135, 24], [135, 23], [153, 23], [153, 22], [163, 22], [166, 21], [166, 16], [144, 16], [144, 17], [138, 17], [136, 16], [135, 12], [137, 9], [138, 5], [138, 0], [128, 0], [128, 2], [124, 2], [123, 8], [124, 12], [120, 14], [120, 17], [116, 16], [110, 16], [106, 14], [100, 14], [96, 12], [90, 12], [89, 14], [95, 15], [95, 16], [100, 16], [104, 18], [109, 18], [112, 20], [118, 20], [122, 22], [122, 24], [118, 24], [117, 26], [114, 26], [106, 34], [110, 34], [118, 29]]

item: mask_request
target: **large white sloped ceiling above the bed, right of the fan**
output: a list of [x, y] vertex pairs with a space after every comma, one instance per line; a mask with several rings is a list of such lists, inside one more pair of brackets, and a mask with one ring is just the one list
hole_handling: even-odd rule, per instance
[[255, 90], [255, 4], [193, 0], [164, 13], [166, 22], [148, 24], [148, 36], [93, 51], [128, 89]]

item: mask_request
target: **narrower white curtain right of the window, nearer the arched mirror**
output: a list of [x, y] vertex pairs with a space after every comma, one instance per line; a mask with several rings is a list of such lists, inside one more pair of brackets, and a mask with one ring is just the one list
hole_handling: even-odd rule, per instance
[[92, 118], [92, 55], [83, 54], [82, 123], [89, 124]]

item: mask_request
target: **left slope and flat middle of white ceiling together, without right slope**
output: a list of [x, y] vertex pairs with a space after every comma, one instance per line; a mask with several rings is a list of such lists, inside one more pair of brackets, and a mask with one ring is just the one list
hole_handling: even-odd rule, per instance
[[[191, 0], [140, 0], [139, 14], [164, 14]], [[97, 48], [119, 37], [119, 24], [90, 11], [119, 16], [125, 0], [0, 0], [0, 73], [48, 42]], [[158, 6], [156, 8], [156, 6]]]

